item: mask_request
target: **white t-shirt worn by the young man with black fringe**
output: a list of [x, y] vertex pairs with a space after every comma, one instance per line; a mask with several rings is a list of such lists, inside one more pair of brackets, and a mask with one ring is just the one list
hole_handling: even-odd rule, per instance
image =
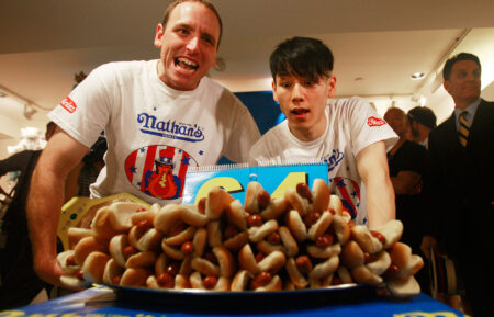
[[[367, 146], [384, 140], [386, 150], [398, 137], [362, 98], [330, 101], [328, 124], [323, 136], [301, 141], [284, 120], [268, 131], [250, 150], [250, 161], [283, 163], [293, 159], [321, 159], [328, 163], [329, 188], [341, 197], [357, 224], [367, 223], [366, 189], [357, 170], [356, 157]], [[310, 184], [311, 185], [311, 184]]]

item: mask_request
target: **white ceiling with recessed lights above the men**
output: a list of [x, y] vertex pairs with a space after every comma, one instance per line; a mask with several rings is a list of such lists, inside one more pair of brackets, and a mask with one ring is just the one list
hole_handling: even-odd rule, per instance
[[[337, 97], [359, 94], [383, 112], [394, 100], [406, 109], [427, 97], [439, 120], [451, 100], [434, 90], [445, 59], [478, 54], [494, 72], [493, 0], [213, 0], [223, 19], [220, 57], [225, 70], [210, 76], [233, 91], [270, 90], [268, 58], [281, 41], [323, 39], [335, 54]], [[112, 60], [158, 57], [153, 46], [164, 0], [23, 0], [0, 4], [0, 138], [20, 127], [44, 131], [45, 114], [72, 88], [74, 75]], [[413, 81], [415, 71], [428, 75]], [[493, 75], [491, 75], [493, 76]], [[491, 77], [492, 80], [492, 77]], [[492, 95], [494, 84], [483, 94]], [[415, 97], [415, 101], [411, 97]]]

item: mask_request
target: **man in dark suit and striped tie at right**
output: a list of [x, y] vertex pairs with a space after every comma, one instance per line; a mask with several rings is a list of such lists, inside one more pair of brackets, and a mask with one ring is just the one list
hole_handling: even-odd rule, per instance
[[[480, 98], [481, 65], [473, 54], [448, 59], [442, 77], [454, 111], [429, 134], [427, 217], [436, 219], [429, 234], [454, 260], [473, 315], [493, 316], [494, 102]], [[434, 242], [423, 240], [426, 256]]]

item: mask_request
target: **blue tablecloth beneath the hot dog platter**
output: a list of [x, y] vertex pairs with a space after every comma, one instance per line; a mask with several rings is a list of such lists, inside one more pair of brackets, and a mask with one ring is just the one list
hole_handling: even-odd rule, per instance
[[[296, 298], [296, 297], [294, 297]], [[192, 299], [191, 299], [192, 301]], [[226, 299], [227, 301], [227, 299]], [[291, 299], [293, 301], [293, 299]], [[156, 301], [154, 301], [156, 302]], [[223, 303], [223, 304], [222, 304]], [[216, 303], [225, 306], [225, 302]], [[238, 303], [236, 303], [238, 304]], [[364, 316], [364, 317], [456, 317], [465, 316], [462, 313], [425, 295], [419, 294], [407, 301], [396, 302], [385, 297], [353, 298], [351, 303], [328, 303], [292, 306], [287, 308], [270, 308], [263, 303], [246, 298], [245, 303], [227, 309], [198, 307], [190, 303], [170, 305], [170, 303], [144, 303], [132, 298], [115, 299], [111, 290], [93, 287], [57, 299], [36, 305], [20, 307], [0, 313], [0, 317], [176, 317], [176, 316]], [[216, 307], [217, 307], [216, 306]], [[258, 307], [256, 307], [258, 306]]]

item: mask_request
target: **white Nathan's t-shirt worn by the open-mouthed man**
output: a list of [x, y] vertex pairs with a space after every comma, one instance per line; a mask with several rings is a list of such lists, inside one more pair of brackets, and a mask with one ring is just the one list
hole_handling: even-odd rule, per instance
[[160, 205], [180, 202], [189, 166], [222, 156], [246, 162], [260, 137], [228, 90], [206, 77], [193, 91], [173, 90], [158, 78], [157, 60], [100, 66], [48, 116], [87, 147], [104, 131], [106, 165], [91, 196], [127, 192]]

